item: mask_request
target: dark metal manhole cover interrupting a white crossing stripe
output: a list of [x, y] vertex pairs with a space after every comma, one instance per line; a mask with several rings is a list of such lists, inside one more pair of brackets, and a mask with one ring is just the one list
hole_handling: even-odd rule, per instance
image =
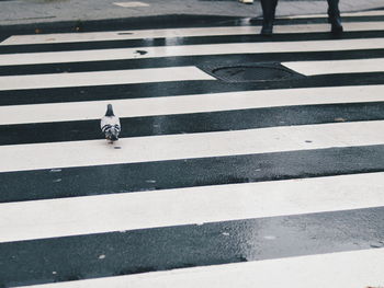
[[258, 62], [233, 66], [205, 66], [202, 70], [226, 82], [261, 82], [304, 78], [279, 62]]

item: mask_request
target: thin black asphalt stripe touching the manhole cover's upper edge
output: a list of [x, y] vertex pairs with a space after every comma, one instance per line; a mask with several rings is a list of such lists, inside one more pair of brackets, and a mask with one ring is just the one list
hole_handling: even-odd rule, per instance
[[2, 66], [0, 70], [0, 76], [111, 71], [124, 69], [210, 66], [217, 64], [230, 66], [234, 64], [250, 64], [262, 61], [283, 62], [310, 60], [348, 60], [382, 57], [384, 57], [384, 49], [179, 56], [148, 59], [117, 59], [109, 61]]

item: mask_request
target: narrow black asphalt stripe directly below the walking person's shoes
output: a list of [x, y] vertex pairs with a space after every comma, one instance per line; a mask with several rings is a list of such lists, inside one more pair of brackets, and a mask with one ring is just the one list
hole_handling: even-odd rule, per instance
[[24, 44], [0, 46], [0, 54], [19, 53], [43, 53], [43, 51], [69, 51], [69, 50], [92, 50], [92, 49], [115, 49], [132, 47], [161, 47], [179, 45], [201, 44], [227, 44], [227, 43], [259, 43], [259, 42], [300, 42], [300, 41], [327, 41], [327, 39], [355, 39], [384, 37], [384, 31], [361, 31], [345, 32], [340, 36], [330, 33], [291, 33], [274, 34], [273, 37], [259, 35], [260, 27], [255, 27], [253, 35], [224, 35], [224, 36], [191, 36], [191, 37], [167, 37], [102, 41], [102, 42], [79, 42], [79, 43], [50, 43], [50, 44]]

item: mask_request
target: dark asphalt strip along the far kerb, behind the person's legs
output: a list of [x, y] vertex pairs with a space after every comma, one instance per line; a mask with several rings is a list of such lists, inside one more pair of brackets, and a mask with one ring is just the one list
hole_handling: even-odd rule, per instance
[[[325, 11], [326, 12], [326, 11]], [[0, 26], [0, 42], [12, 35], [126, 31], [126, 30], [156, 30], [181, 27], [210, 27], [210, 26], [240, 26], [261, 25], [261, 18], [245, 19], [216, 15], [171, 14], [160, 16], [145, 16], [140, 19], [125, 18], [113, 20], [67, 21], [54, 23], [32, 23]], [[343, 22], [372, 22], [384, 21], [384, 16], [342, 16]], [[327, 23], [327, 18], [276, 19], [279, 25]]]

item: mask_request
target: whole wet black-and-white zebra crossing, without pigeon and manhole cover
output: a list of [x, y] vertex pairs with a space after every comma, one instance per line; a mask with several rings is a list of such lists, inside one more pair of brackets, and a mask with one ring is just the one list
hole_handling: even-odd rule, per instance
[[[343, 20], [4, 38], [0, 287], [384, 286], [384, 12]], [[304, 77], [201, 69], [264, 61]]]

